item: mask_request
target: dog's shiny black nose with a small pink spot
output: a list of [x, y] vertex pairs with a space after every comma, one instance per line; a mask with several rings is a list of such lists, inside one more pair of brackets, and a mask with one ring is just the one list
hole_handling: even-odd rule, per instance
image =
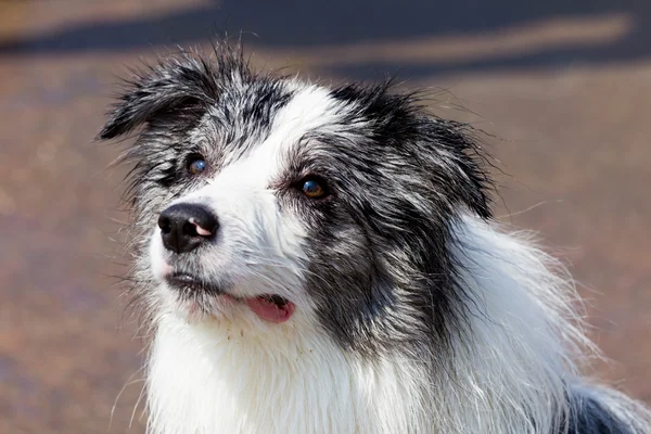
[[161, 213], [158, 227], [165, 248], [186, 253], [215, 237], [219, 228], [217, 217], [195, 204], [177, 204]]

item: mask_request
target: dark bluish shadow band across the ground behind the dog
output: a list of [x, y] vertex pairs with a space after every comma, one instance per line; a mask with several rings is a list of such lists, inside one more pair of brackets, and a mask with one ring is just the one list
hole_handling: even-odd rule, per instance
[[[405, 40], [432, 37], [476, 37], [512, 27], [526, 27], [553, 20], [590, 20], [625, 16], [630, 28], [613, 41], [598, 44], [563, 44], [534, 52], [497, 58], [464, 59], [445, 64], [370, 61], [336, 65], [332, 73], [369, 77], [399, 71], [418, 78], [459, 71], [544, 68], [576, 63], [631, 62], [651, 53], [651, 2], [518, 0], [455, 2], [411, 0], [361, 1], [210, 1], [181, 11], [115, 22], [97, 21], [39, 35], [0, 42], [0, 54], [69, 53], [150, 49], [205, 41], [216, 34], [243, 33], [243, 39], [266, 48], [319, 49], [333, 44]], [[254, 36], [256, 35], [256, 36]]]

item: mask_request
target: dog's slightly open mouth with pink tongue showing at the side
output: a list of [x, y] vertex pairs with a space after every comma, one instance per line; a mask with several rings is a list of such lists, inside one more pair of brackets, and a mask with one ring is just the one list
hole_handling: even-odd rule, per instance
[[256, 297], [235, 297], [227, 294], [218, 285], [202, 281], [184, 272], [171, 273], [166, 278], [166, 281], [171, 288], [179, 290], [201, 291], [208, 295], [227, 297], [235, 303], [244, 303], [255, 315], [269, 322], [285, 322], [292, 317], [295, 309], [292, 302], [280, 295], [263, 294]]

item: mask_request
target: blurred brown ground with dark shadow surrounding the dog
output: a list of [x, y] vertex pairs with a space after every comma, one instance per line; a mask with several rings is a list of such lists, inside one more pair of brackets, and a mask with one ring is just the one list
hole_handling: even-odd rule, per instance
[[259, 67], [431, 90], [493, 137], [497, 215], [584, 284], [595, 374], [651, 403], [651, 2], [0, 0], [0, 433], [142, 433], [93, 143], [127, 66], [242, 31]]

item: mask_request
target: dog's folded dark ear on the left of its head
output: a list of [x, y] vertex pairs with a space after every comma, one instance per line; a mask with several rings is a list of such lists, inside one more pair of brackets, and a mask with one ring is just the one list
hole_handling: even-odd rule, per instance
[[178, 113], [197, 114], [217, 98], [215, 72], [207, 62], [186, 59], [139, 73], [127, 81], [99, 140], [113, 139], [157, 117]]

